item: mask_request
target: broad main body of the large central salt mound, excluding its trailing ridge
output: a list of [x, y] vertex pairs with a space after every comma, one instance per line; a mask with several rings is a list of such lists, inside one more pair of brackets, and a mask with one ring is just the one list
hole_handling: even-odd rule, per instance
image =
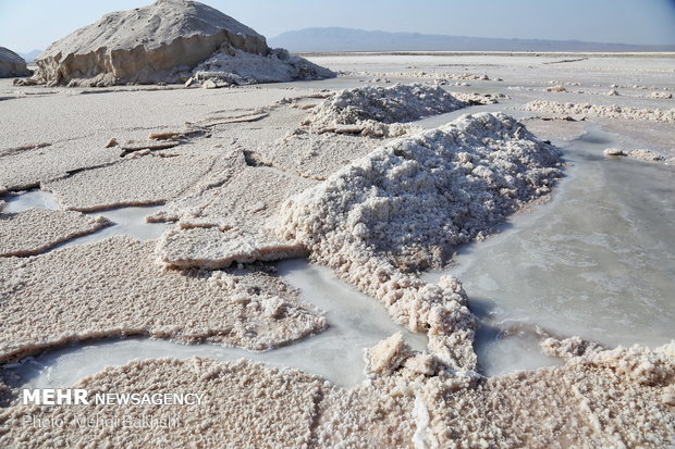
[[401, 266], [441, 266], [453, 247], [548, 194], [559, 163], [559, 151], [514, 119], [464, 115], [377, 149], [295, 197], [284, 236], [312, 247], [358, 241]]

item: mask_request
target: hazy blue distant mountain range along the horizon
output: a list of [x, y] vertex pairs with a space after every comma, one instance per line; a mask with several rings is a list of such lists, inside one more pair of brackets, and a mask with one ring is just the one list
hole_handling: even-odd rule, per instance
[[581, 42], [578, 40], [498, 39], [353, 28], [305, 28], [268, 39], [293, 52], [331, 51], [675, 51], [674, 46]]

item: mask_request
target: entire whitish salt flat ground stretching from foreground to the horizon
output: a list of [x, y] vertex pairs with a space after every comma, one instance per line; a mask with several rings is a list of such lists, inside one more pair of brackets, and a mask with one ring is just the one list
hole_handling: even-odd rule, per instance
[[[22, 195], [85, 222], [152, 205], [167, 229], [139, 242], [101, 240], [102, 228], [62, 248], [64, 228], [42, 254], [0, 258], [8, 402], [24, 384], [199, 385], [211, 404], [152, 412], [180, 413], [182, 432], [105, 436], [13, 425], [29, 412], [14, 402], [0, 444], [667, 445], [675, 57], [309, 59], [339, 76], [221, 89], [0, 79], [0, 235], [16, 233], [5, 217]], [[480, 104], [405, 123], [375, 114], [400, 97], [370, 88], [396, 83]], [[360, 89], [343, 95], [358, 120], [328, 123], [322, 105], [347, 88]], [[663, 161], [604, 157], [610, 147]], [[40, 189], [53, 197], [34, 201]], [[189, 245], [168, 238], [184, 235]], [[296, 250], [310, 264], [274, 261]], [[345, 297], [368, 307], [331, 304]], [[395, 332], [409, 347], [376, 346]], [[174, 353], [148, 336], [191, 345]], [[154, 360], [167, 356], [181, 360]]]

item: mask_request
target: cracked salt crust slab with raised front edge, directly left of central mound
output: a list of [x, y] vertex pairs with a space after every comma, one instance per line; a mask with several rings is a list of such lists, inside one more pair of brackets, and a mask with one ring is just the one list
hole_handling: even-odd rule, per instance
[[[160, 263], [213, 269], [307, 253], [302, 245], [274, 236], [269, 226], [289, 196], [314, 183], [266, 167], [249, 167], [242, 153], [230, 161], [232, 165], [224, 166], [220, 174], [221, 185], [168, 205], [177, 224], [157, 245]], [[256, 189], [250, 188], [254, 185]], [[156, 217], [165, 220], [161, 215]]]

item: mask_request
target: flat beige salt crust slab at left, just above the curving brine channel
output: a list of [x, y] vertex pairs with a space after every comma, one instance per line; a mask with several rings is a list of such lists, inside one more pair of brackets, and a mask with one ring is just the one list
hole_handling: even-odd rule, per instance
[[[261, 350], [326, 327], [297, 290], [265, 270], [165, 271], [154, 264], [152, 249], [113, 237], [28, 259], [0, 259], [0, 360], [122, 335]], [[278, 313], [266, 314], [271, 302]]]

